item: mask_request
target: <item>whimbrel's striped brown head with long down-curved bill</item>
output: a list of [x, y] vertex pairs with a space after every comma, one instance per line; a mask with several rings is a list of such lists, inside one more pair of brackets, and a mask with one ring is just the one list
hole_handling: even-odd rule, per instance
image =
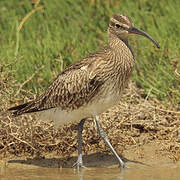
[[116, 35], [119, 39], [127, 41], [129, 34], [139, 34], [150, 39], [157, 48], [160, 48], [158, 42], [146, 32], [134, 27], [133, 22], [127, 16], [115, 14], [109, 23], [108, 32]]

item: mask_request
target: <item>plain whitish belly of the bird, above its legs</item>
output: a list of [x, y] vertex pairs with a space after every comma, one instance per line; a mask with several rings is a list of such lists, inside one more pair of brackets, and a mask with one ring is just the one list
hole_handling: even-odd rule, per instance
[[107, 97], [97, 102], [87, 104], [73, 111], [65, 111], [60, 108], [52, 108], [40, 112], [40, 119], [43, 121], [53, 121], [55, 127], [69, 123], [78, 123], [83, 118], [94, 117], [117, 104], [119, 97]]

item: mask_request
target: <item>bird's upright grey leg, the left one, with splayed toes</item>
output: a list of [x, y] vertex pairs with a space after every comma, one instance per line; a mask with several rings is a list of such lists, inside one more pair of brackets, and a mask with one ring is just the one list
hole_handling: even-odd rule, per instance
[[85, 119], [82, 119], [80, 123], [78, 124], [78, 160], [73, 165], [73, 167], [76, 165], [77, 169], [84, 168], [83, 161], [82, 161], [82, 130], [84, 125]]

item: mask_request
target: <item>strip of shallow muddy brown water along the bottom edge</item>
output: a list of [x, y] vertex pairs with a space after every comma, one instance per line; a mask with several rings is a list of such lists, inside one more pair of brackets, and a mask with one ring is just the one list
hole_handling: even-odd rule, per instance
[[161, 167], [131, 166], [120, 171], [119, 168], [87, 168], [77, 172], [72, 168], [3, 168], [1, 180], [179, 180], [180, 166], [167, 164]]

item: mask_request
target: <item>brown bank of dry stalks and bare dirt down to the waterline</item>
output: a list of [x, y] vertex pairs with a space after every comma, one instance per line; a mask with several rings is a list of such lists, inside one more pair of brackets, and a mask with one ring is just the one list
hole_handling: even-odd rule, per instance
[[[9, 106], [7, 99], [4, 102], [6, 103], [1, 106], [0, 114], [2, 161], [22, 160], [23, 163], [39, 163], [41, 166], [72, 166], [75, 162], [72, 156], [77, 154], [76, 125], [57, 130], [52, 124], [39, 122], [34, 115], [12, 118], [5, 111]], [[156, 160], [165, 158], [165, 161], [169, 159], [177, 162], [180, 159], [179, 109], [177, 105], [174, 109], [167, 110], [159, 101], [148, 99], [131, 82], [119, 105], [103, 113], [100, 120], [113, 147], [125, 158], [147, 162], [153, 159], [153, 154], [153, 157], [157, 157]], [[108, 166], [115, 163], [109, 149], [97, 134], [92, 119], [85, 123], [83, 142], [85, 163], [89, 161], [89, 166], [99, 166], [99, 160]], [[146, 152], [147, 147], [149, 152]]]

